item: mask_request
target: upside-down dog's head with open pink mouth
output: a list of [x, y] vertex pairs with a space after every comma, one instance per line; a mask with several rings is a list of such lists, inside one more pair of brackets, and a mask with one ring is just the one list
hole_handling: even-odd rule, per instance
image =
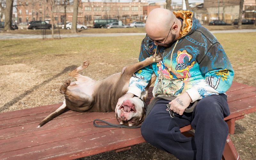
[[145, 118], [144, 106], [144, 102], [138, 97], [125, 100], [116, 108], [117, 121], [130, 127], [139, 125]]

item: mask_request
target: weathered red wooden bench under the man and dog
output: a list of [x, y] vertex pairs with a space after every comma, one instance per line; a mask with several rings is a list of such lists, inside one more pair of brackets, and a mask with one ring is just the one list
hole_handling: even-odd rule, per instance
[[[256, 87], [233, 83], [227, 92], [230, 116], [225, 118], [229, 133], [235, 121], [256, 111]], [[148, 101], [150, 100], [149, 95]], [[41, 128], [38, 123], [61, 103], [0, 114], [0, 159], [75, 159], [110, 150], [124, 150], [145, 140], [140, 128], [97, 128], [96, 118], [116, 123], [114, 112], [79, 113], [68, 111]], [[190, 125], [180, 129], [185, 135]], [[188, 131], [188, 132], [187, 132]], [[124, 136], [125, 135], [125, 136]], [[228, 136], [223, 159], [237, 159], [236, 149]]]

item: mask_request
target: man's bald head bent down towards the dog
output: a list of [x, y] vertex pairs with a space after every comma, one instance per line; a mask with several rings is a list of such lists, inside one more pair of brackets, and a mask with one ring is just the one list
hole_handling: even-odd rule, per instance
[[[146, 26], [145, 26], [146, 33], [150, 38], [154, 40], [164, 40], [168, 32], [170, 31], [172, 25], [174, 24], [174, 22], [176, 22], [175, 24], [177, 28], [177, 20], [178, 19], [170, 10], [163, 9], [163, 8], [153, 9], [148, 14], [148, 17], [147, 17]], [[179, 27], [180, 26], [181, 24], [179, 24]], [[172, 33], [171, 37], [176, 37], [176, 33]]]

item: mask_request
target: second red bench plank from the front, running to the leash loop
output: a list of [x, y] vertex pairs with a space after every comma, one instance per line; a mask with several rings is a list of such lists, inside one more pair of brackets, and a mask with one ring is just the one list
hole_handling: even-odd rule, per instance
[[[116, 118], [110, 118], [108, 119], [108, 122], [113, 124], [118, 123], [116, 121]], [[43, 130], [41, 132], [33, 132], [28, 135], [21, 135], [18, 137], [0, 140], [0, 153], [28, 148], [28, 146], [35, 147], [38, 145], [48, 144], [56, 141], [79, 138], [82, 136], [92, 135], [95, 133], [106, 132], [115, 129], [117, 128], [113, 129], [94, 127], [92, 125], [92, 122], [87, 122], [84, 124], [75, 124], [66, 127], [60, 126], [57, 129]]]

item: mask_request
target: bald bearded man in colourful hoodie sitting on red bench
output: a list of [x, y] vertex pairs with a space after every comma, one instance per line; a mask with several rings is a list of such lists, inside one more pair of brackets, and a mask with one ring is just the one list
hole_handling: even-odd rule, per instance
[[[230, 114], [225, 92], [234, 76], [221, 44], [189, 10], [152, 10], [146, 32], [139, 61], [157, 53], [163, 60], [137, 71], [117, 106], [140, 97], [155, 74], [157, 99], [141, 126], [143, 138], [178, 159], [221, 159], [228, 135], [223, 118]], [[193, 138], [180, 133], [188, 124]]]

